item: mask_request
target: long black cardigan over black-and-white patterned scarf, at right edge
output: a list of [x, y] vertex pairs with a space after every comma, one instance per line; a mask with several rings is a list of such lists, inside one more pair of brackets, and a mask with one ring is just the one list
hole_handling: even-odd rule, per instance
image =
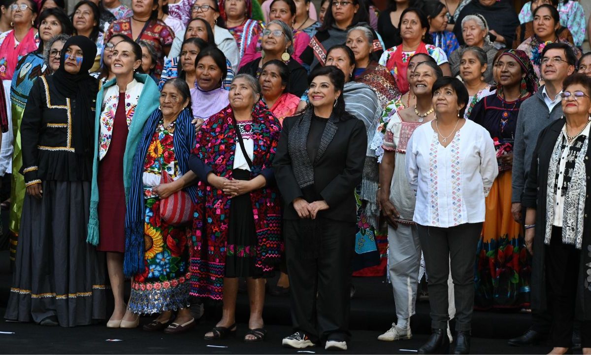
[[[564, 127], [565, 120], [561, 118], [553, 121], [538, 136], [538, 143], [535, 146], [534, 154], [531, 158], [531, 169], [525, 182], [525, 191], [521, 204], [527, 208], [534, 208], [535, 213], [535, 237], [534, 237], [534, 257], [531, 268], [531, 308], [537, 311], [547, 309], [546, 285], [545, 285], [545, 225], [546, 221], [546, 197], [548, 194], [548, 170], [550, 170], [550, 158], [554, 150], [554, 145]], [[582, 152], [583, 153], [583, 152]], [[583, 222], [583, 246], [581, 251], [581, 260], [579, 266], [579, 284], [577, 285], [576, 309], [577, 318], [581, 320], [591, 320], [591, 291], [585, 288], [585, 279], [587, 276], [586, 263], [591, 262], [587, 247], [590, 246], [591, 225], [587, 215], [591, 215], [591, 163], [589, 162], [589, 147], [584, 152], [584, 164], [587, 175], [587, 192], [584, 206]], [[552, 177], [553, 179], [553, 177]], [[551, 221], [550, 221], [551, 222]]]

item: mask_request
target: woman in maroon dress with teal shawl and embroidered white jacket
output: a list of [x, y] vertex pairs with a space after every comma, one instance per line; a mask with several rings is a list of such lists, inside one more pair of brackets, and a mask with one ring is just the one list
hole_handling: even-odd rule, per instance
[[106, 252], [107, 269], [115, 298], [108, 328], [135, 328], [139, 317], [126, 312], [123, 261], [125, 253], [125, 208], [131, 166], [139, 137], [148, 117], [158, 105], [158, 86], [136, 71], [142, 49], [130, 38], [113, 48], [111, 72], [115, 79], [96, 96], [95, 146], [88, 243]]

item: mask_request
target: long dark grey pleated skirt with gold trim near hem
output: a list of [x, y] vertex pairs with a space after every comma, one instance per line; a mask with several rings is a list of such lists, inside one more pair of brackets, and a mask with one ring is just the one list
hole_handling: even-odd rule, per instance
[[25, 195], [5, 318], [62, 327], [105, 319], [105, 255], [86, 243], [90, 182], [43, 182]]

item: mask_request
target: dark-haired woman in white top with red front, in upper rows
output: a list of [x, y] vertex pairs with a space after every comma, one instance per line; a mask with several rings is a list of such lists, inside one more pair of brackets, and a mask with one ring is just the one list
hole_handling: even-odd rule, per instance
[[387, 67], [394, 75], [401, 93], [408, 91], [408, 82], [406, 80], [408, 60], [415, 53], [430, 55], [441, 67], [443, 75], [449, 75], [450, 68], [449, 63], [447, 63], [447, 56], [442, 49], [431, 44], [431, 36], [428, 35], [429, 22], [420, 9], [407, 8], [402, 11], [398, 28], [401, 31], [402, 43], [385, 51], [379, 59], [379, 64]]

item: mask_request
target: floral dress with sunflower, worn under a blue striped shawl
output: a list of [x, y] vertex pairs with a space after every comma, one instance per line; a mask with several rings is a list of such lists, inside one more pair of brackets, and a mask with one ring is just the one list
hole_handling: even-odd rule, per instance
[[164, 171], [173, 179], [180, 177], [174, 157], [173, 127], [164, 127], [163, 121], [158, 123], [144, 161], [145, 269], [131, 283], [129, 308], [134, 313], [151, 314], [189, 305], [187, 237], [191, 226], [168, 225], [162, 221], [161, 200], [152, 191]]

